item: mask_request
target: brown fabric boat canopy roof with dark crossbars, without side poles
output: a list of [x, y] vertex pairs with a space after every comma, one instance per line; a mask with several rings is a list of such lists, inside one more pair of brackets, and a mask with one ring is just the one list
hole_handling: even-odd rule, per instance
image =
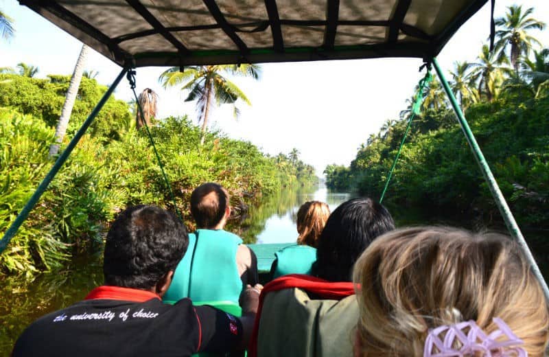
[[[297, 11], [290, 1], [264, 0], [264, 1], [215, 1], [203, 0], [202, 6], [194, 1], [189, 1], [187, 9], [183, 3], [174, 1], [148, 0], [117, 0], [108, 2], [82, 1], [82, 0], [19, 0], [40, 16], [45, 17], [54, 25], [62, 28], [78, 38], [86, 45], [113, 60], [120, 66], [124, 66], [129, 58], [135, 60], [136, 67], [142, 66], [187, 66], [187, 65], [223, 65], [235, 63], [266, 63], [266, 62], [296, 62], [314, 60], [343, 60], [360, 58], [381, 57], [412, 57], [428, 59], [438, 55], [449, 38], [459, 29], [467, 19], [475, 14], [487, 0], [436, 0], [436, 1], [412, 1], [412, 0], [387, 0], [394, 3], [388, 14], [358, 16], [356, 14], [341, 14], [340, 8], [344, 5], [353, 5], [355, 8], [369, 8], [375, 14], [377, 4], [372, 1], [346, 1], [339, 0], [309, 0], [302, 1], [303, 6], [325, 5], [324, 19], [318, 19], [305, 11], [289, 15], [288, 10]], [[108, 4], [107, 4], [108, 3]], [[425, 12], [432, 19], [416, 19], [417, 23], [405, 21], [408, 11], [417, 5], [424, 6]], [[89, 19], [88, 13], [75, 12], [75, 8], [82, 5], [86, 9], [100, 9], [102, 5], [113, 10], [119, 10], [121, 14], [132, 16], [136, 21], [141, 21], [141, 26], [135, 30], [116, 31], [108, 34], [108, 27], [104, 26], [101, 19]], [[301, 4], [300, 4], [301, 5]], [[352, 6], [349, 5], [349, 8]], [[438, 7], [436, 7], [438, 5]], [[170, 6], [173, 7], [169, 8]], [[239, 8], [241, 6], [241, 8]], [[244, 16], [239, 13], [242, 7], [255, 7], [261, 10], [261, 16]], [[384, 5], [389, 6], [389, 5]], [[389, 6], [390, 7], [390, 6]], [[455, 14], [447, 19], [447, 14], [441, 8], [452, 10]], [[198, 10], [197, 10], [198, 9]], [[373, 10], [372, 10], [373, 9]], [[417, 8], [414, 8], [417, 10]], [[105, 10], [106, 11], [106, 10]], [[173, 24], [165, 19], [165, 14], [180, 12], [181, 17], [200, 15], [208, 21], [186, 21], [183, 25]], [[263, 15], [262, 13], [265, 13]], [[431, 13], [430, 13], [431, 12]], [[99, 14], [98, 14], [99, 16]], [[412, 16], [414, 17], [414, 16]], [[421, 17], [421, 16], [417, 16]], [[429, 17], [429, 16], [426, 16]], [[181, 20], [183, 21], [183, 20]], [[443, 23], [442, 28], [435, 28]], [[288, 27], [321, 32], [318, 36], [323, 38], [320, 45], [295, 45], [291, 36], [283, 36], [284, 29]], [[343, 30], [340, 30], [343, 27]], [[345, 29], [354, 29], [349, 32]], [[369, 41], [367, 34], [369, 29], [379, 28], [385, 31], [384, 38]], [[223, 33], [226, 43], [231, 43], [231, 48], [212, 48], [212, 46], [197, 46], [191, 38], [196, 32], [204, 30], [218, 30]], [[256, 43], [255, 40], [246, 39], [249, 34], [264, 34], [268, 41]], [[303, 35], [303, 34], [302, 34]], [[130, 51], [127, 49], [128, 41], [143, 40], [156, 36], [165, 41], [167, 47], [161, 51], [143, 48]], [[338, 44], [338, 36], [355, 37], [351, 44]], [[141, 41], [143, 43], [143, 41]], [[146, 47], [146, 46], [144, 46]]]

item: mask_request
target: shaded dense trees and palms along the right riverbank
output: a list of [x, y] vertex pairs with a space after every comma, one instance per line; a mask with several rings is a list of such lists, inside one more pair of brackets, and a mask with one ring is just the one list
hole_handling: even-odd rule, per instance
[[[484, 45], [475, 62], [456, 62], [450, 86], [519, 223], [547, 228], [549, 49], [533, 49], [537, 40], [528, 30], [545, 25], [528, 17], [531, 12], [511, 6], [496, 21], [495, 52]], [[423, 113], [412, 122], [384, 203], [499, 219], [440, 83], [431, 82], [423, 95]], [[409, 102], [399, 120], [388, 120], [369, 137], [349, 168], [326, 168], [328, 187], [381, 195], [411, 112]]]

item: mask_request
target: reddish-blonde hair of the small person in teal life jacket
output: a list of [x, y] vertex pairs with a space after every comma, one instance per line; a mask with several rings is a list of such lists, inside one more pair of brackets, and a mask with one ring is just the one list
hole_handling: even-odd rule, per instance
[[318, 237], [328, 217], [330, 209], [326, 203], [320, 201], [309, 201], [303, 203], [297, 211], [297, 244], [306, 244], [316, 248]]

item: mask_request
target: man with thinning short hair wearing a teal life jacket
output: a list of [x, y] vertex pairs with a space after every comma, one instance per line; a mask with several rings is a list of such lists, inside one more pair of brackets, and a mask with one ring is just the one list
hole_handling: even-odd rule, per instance
[[191, 214], [198, 229], [189, 234], [189, 250], [178, 264], [164, 301], [189, 297], [195, 303], [238, 303], [246, 285], [259, 281], [257, 257], [242, 239], [224, 230], [231, 216], [229, 193], [218, 183], [204, 183], [191, 194]]

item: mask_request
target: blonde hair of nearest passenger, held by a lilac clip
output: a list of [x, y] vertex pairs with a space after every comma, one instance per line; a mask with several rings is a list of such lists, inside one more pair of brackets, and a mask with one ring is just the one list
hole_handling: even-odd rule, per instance
[[504, 235], [450, 227], [390, 231], [374, 240], [353, 273], [360, 309], [355, 356], [423, 356], [428, 331], [476, 321], [490, 333], [502, 319], [544, 356], [549, 312], [519, 246]]

